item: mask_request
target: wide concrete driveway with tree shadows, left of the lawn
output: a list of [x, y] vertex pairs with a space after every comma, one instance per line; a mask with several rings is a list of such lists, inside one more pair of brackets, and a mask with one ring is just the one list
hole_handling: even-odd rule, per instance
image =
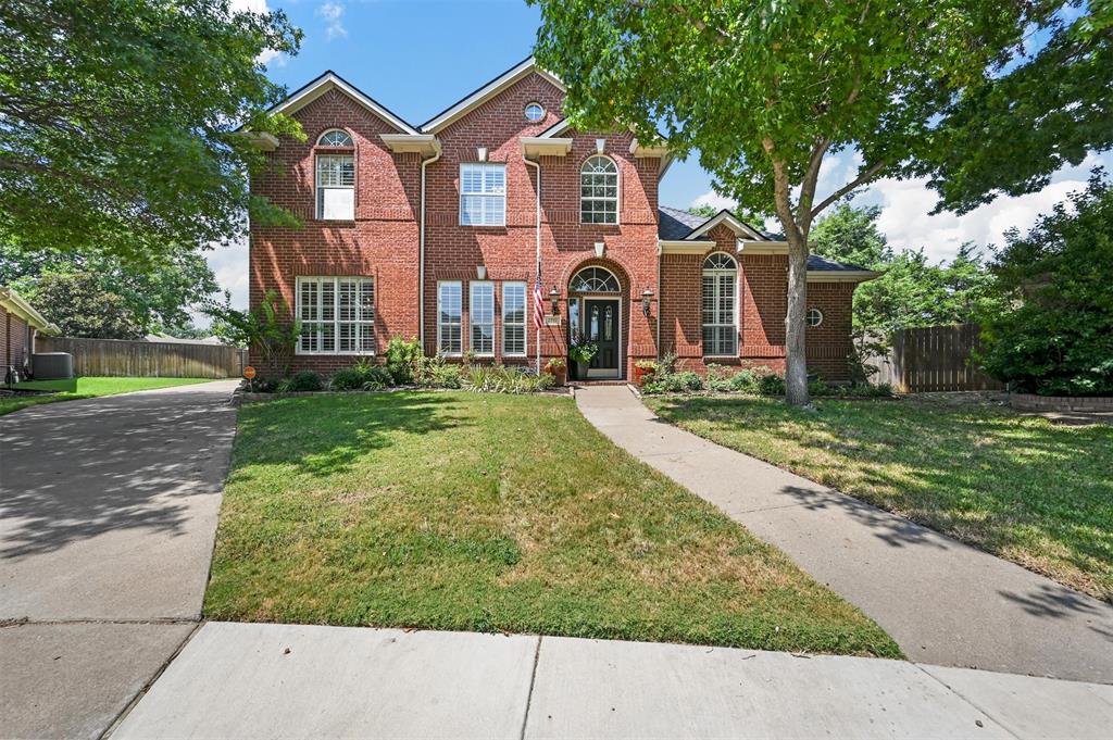
[[100, 737], [196, 629], [235, 386], [0, 416], [0, 737]]

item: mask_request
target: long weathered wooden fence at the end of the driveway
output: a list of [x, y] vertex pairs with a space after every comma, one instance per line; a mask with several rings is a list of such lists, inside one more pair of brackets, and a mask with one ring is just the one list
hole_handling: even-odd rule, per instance
[[77, 375], [239, 377], [247, 364], [246, 349], [220, 344], [40, 336], [35, 351], [68, 352]]

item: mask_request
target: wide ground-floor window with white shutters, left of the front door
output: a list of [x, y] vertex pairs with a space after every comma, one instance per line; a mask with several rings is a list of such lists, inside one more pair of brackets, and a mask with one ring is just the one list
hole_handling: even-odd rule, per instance
[[298, 277], [301, 355], [375, 353], [375, 282], [370, 277]]

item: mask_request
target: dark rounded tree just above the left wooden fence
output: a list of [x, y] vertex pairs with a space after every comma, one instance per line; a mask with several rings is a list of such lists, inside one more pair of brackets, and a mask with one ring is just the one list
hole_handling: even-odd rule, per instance
[[92, 273], [48, 273], [28, 296], [65, 336], [141, 339], [144, 327], [127, 299]]

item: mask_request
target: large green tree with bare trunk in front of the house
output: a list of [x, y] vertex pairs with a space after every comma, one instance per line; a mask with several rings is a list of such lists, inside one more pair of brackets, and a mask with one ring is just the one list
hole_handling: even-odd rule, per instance
[[[584, 128], [630, 126], [698, 150], [717, 188], [776, 213], [788, 241], [787, 389], [808, 403], [808, 237], [816, 217], [883, 176], [923, 171], [939, 116], [1007, 71], [1050, 9], [1015, 0], [532, 0], [541, 63]], [[1057, 4], [1057, 3], [1056, 3]], [[819, 193], [828, 155], [860, 166]]]

